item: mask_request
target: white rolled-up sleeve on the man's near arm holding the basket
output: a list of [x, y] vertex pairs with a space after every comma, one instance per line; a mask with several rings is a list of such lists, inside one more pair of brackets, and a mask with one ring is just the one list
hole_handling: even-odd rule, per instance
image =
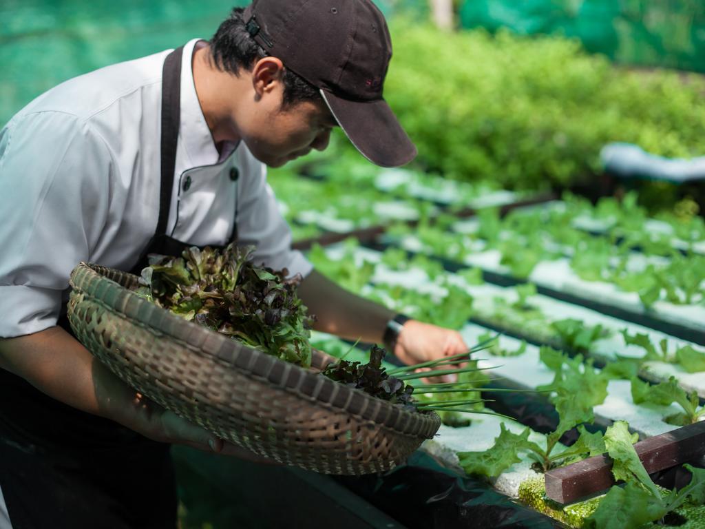
[[87, 123], [44, 111], [0, 132], [0, 337], [56, 324], [107, 214], [109, 151]]

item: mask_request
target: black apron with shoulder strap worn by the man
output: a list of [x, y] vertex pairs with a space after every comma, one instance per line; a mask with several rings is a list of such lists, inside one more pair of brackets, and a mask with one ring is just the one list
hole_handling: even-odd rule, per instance
[[[149, 253], [180, 255], [191, 246], [166, 235], [180, 121], [182, 51], [183, 47], [172, 51], [164, 61], [159, 220], [130, 271], [137, 275], [148, 265]], [[233, 240], [235, 236], [233, 227]], [[73, 335], [65, 305], [61, 314], [58, 324]], [[13, 529], [176, 528], [169, 448], [117, 422], [51, 399], [0, 369], [0, 488]]]

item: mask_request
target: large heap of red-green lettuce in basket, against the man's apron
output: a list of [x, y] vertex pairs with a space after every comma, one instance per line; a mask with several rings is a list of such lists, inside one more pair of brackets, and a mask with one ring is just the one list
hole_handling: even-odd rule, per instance
[[313, 318], [297, 294], [301, 276], [252, 265], [253, 250], [193, 246], [181, 257], [150, 256], [138, 293], [185, 320], [309, 367]]

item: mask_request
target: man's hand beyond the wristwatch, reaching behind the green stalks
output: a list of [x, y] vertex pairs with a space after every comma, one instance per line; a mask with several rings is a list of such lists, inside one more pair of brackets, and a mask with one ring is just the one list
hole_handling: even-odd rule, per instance
[[[443, 329], [428, 323], [409, 320], [404, 324], [394, 348], [394, 355], [407, 365], [465, 353], [468, 350], [458, 331]], [[443, 365], [441, 369], [453, 369], [453, 365]], [[443, 382], [455, 382], [457, 375], [440, 377]], [[438, 382], [439, 379], [436, 379]]]

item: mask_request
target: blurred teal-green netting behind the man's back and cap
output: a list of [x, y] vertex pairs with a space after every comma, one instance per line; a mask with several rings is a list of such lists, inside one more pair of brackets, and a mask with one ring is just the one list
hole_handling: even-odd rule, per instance
[[[386, 16], [427, 12], [425, 0], [376, 0]], [[211, 37], [248, 0], [3, 0], [0, 127], [62, 81], [111, 63]]]

